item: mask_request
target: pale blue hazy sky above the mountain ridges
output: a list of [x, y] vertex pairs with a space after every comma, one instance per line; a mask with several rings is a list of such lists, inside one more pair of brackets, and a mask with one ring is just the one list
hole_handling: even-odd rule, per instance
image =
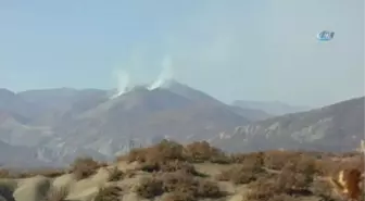
[[[0, 87], [114, 88], [118, 70], [223, 101], [365, 96], [364, 0], [0, 0]], [[332, 41], [316, 34], [335, 30]]]

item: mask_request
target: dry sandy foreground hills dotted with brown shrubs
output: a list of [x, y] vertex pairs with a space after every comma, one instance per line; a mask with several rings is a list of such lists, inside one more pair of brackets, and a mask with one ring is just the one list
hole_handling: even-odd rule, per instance
[[226, 154], [207, 142], [163, 140], [110, 164], [77, 159], [65, 169], [1, 169], [3, 201], [340, 200], [327, 181], [358, 153], [266, 151]]

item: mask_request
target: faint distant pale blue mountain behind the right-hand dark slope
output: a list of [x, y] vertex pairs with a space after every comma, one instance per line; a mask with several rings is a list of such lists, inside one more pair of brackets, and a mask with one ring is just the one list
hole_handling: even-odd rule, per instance
[[279, 101], [265, 102], [265, 101], [237, 100], [232, 102], [232, 105], [240, 106], [242, 109], [261, 110], [269, 115], [275, 116], [310, 110], [306, 106], [294, 106]]

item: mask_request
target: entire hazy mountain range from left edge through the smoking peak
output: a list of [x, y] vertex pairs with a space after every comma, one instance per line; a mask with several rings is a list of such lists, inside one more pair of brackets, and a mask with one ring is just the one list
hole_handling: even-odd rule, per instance
[[262, 120], [262, 111], [227, 105], [174, 80], [162, 84], [153, 90], [129, 88], [117, 97], [112, 90], [99, 89], [18, 93], [2, 89], [0, 140], [29, 149], [47, 164], [62, 164], [80, 154], [113, 159], [127, 151], [131, 141], [144, 146], [163, 138], [180, 142], [211, 139]]

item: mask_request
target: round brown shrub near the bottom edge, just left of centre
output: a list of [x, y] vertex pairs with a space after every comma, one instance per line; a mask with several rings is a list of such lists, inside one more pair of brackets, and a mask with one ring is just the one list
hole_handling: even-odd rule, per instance
[[155, 177], [144, 177], [136, 188], [136, 192], [147, 199], [161, 196], [163, 193], [162, 181]]

